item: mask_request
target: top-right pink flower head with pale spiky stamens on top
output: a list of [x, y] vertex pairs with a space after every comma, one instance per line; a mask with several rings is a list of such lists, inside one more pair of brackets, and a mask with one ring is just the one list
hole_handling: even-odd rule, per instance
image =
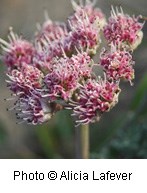
[[122, 43], [123, 46], [134, 50], [142, 41], [141, 31], [143, 24], [139, 23], [139, 17], [130, 17], [112, 8], [111, 17], [108, 24], [104, 27], [104, 36], [109, 43], [116, 45]]

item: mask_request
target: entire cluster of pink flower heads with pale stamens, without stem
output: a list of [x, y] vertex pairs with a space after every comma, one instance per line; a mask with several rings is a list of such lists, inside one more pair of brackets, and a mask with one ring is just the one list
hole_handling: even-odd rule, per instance
[[[112, 8], [108, 22], [94, 2], [72, 1], [74, 12], [65, 23], [46, 21], [30, 42], [12, 28], [8, 42], [0, 39], [7, 85], [16, 98], [20, 122], [41, 124], [59, 110], [72, 109], [76, 124], [98, 121], [118, 102], [121, 80], [134, 79], [132, 53], [141, 43], [143, 24]], [[106, 39], [107, 49], [92, 57]], [[98, 76], [94, 67], [101, 66]]]

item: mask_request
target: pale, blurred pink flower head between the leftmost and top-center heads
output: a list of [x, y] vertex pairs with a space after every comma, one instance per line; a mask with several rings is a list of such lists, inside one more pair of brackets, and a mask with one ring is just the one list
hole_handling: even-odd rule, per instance
[[72, 51], [70, 36], [65, 23], [53, 22], [47, 15], [46, 21], [42, 26], [39, 26], [39, 31], [35, 37], [36, 50], [38, 47], [40, 51], [42, 49], [47, 58], [46, 61], [50, 61], [56, 56], [61, 57], [63, 50], [68, 55]]

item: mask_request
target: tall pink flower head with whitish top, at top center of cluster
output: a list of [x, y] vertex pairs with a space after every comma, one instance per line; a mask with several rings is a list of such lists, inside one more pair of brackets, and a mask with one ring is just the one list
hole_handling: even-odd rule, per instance
[[68, 19], [71, 31], [71, 42], [73, 47], [83, 49], [89, 54], [96, 54], [100, 44], [100, 27], [88, 17], [84, 9], [77, 8], [73, 16]]

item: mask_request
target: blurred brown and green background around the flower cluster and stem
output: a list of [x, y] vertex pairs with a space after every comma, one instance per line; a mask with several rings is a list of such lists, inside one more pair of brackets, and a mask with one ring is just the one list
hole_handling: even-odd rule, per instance
[[[109, 16], [111, 5], [122, 6], [125, 13], [147, 17], [146, 0], [98, 0]], [[53, 20], [64, 21], [72, 12], [70, 0], [0, 0], [0, 37], [8, 28], [31, 39], [36, 23], [44, 21], [44, 9]], [[90, 126], [91, 158], [147, 158], [147, 24], [144, 39], [134, 52], [134, 86], [121, 85], [118, 105]], [[0, 158], [74, 158], [74, 123], [62, 111], [42, 126], [16, 124], [15, 112], [6, 111], [10, 92], [5, 83], [5, 67], [0, 64]]]

